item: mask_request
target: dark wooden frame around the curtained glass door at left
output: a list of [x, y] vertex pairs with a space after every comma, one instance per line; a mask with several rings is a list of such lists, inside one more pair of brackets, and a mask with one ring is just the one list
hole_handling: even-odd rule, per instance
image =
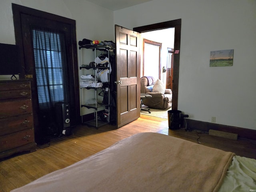
[[70, 64], [70, 68], [72, 71], [72, 77], [70, 81], [72, 85], [70, 85], [72, 91], [74, 91], [74, 125], [78, 124], [80, 117], [80, 100], [79, 100], [79, 77], [78, 77], [78, 61], [77, 61], [77, 44], [76, 44], [76, 21], [65, 18], [62, 16], [58, 16], [55, 14], [51, 14], [48, 12], [36, 10], [33, 8], [28, 8], [25, 6], [21, 6], [18, 4], [12, 3], [12, 14], [13, 14], [13, 22], [14, 22], [14, 35], [16, 40], [16, 45], [19, 46], [19, 56], [20, 63], [22, 67], [22, 71], [20, 73], [20, 79], [25, 79], [27, 74], [32, 74], [31, 82], [32, 82], [32, 105], [33, 105], [33, 113], [34, 113], [34, 127], [35, 127], [35, 137], [40, 138], [40, 126], [38, 116], [36, 116], [38, 111], [38, 99], [37, 99], [37, 89], [35, 86], [35, 70], [32, 66], [29, 66], [28, 63], [33, 63], [34, 58], [30, 57], [29, 59], [25, 58], [25, 54], [33, 55], [33, 50], [27, 50], [24, 48], [24, 38], [27, 34], [22, 33], [22, 15], [34, 16], [42, 19], [48, 20], [48, 22], [60, 22], [69, 26], [67, 30], [70, 30], [70, 44], [68, 45], [67, 54], [70, 55], [68, 58], [68, 63]]

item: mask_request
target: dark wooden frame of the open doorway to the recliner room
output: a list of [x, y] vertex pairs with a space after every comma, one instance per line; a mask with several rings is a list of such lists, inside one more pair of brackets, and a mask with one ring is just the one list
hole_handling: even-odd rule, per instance
[[149, 32], [154, 30], [175, 28], [174, 32], [174, 64], [173, 64], [173, 89], [172, 89], [172, 109], [178, 109], [178, 85], [179, 85], [179, 69], [180, 69], [180, 34], [181, 19], [150, 24], [133, 28], [136, 32]]

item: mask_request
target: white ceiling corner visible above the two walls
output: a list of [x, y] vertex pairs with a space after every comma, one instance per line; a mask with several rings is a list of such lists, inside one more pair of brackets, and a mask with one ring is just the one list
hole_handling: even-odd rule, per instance
[[110, 10], [119, 10], [152, 0], [86, 0]]

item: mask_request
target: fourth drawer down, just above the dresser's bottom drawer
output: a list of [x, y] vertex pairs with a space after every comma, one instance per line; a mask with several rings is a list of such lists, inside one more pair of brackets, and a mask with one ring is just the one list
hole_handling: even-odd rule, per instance
[[32, 114], [2, 118], [0, 119], [0, 136], [33, 127], [34, 122]]

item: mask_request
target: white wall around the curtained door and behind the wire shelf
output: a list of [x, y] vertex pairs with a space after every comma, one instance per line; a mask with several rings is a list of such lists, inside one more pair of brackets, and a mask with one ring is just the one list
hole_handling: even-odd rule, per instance
[[[12, 3], [76, 20], [77, 42], [83, 38], [114, 41], [113, 11], [85, 0], [0, 0], [0, 43], [15, 44]], [[78, 49], [78, 66], [79, 58]], [[10, 79], [10, 76], [0, 76], [0, 79]], [[83, 114], [92, 111], [83, 110]]]

